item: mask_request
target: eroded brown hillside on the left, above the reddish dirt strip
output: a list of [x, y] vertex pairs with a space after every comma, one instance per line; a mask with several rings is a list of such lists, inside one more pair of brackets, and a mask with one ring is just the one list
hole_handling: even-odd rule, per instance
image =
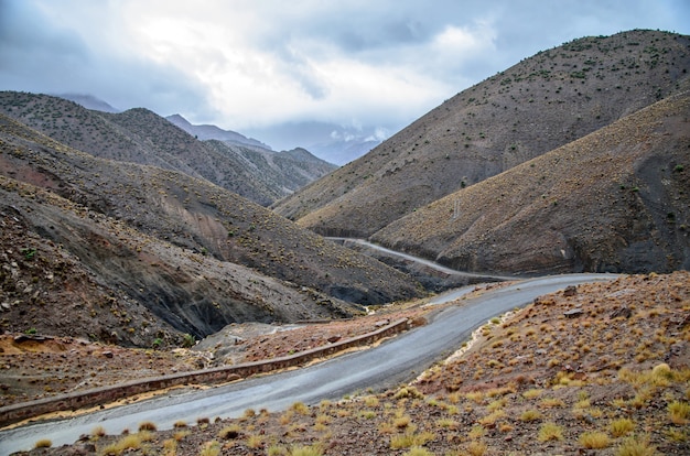
[[[140, 345], [157, 335], [137, 336], [151, 315], [161, 328], [204, 336], [233, 322], [346, 316], [357, 308], [344, 301], [421, 293], [405, 274], [207, 181], [94, 158], [8, 117], [0, 122], [3, 224], [33, 239], [3, 228], [4, 329], [89, 335], [105, 308], [119, 318], [112, 338]], [[51, 265], [67, 261], [53, 259], [54, 246], [93, 283], [78, 281], [74, 302], [42, 297], [64, 275]], [[110, 297], [90, 296], [87, 285]], [[72, 304], [86, 323], [64, 312]]]

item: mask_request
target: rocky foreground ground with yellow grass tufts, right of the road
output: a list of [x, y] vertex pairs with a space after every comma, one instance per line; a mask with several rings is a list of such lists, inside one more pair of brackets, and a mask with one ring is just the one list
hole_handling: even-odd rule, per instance
[[[689, 312], [690, 273], [621, 276], [492, 319], [456, 355], [391, 391], [200, 416], [160, 432], [142, 423], [108, 435], [95, 423], [82, 442], [30, 454], [687, 454]], [[160, 359], [149, 357], [150, 366]]]

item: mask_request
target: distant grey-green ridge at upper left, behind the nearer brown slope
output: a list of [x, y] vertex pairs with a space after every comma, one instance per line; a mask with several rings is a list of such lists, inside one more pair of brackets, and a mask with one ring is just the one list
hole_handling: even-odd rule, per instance
[[143, 108], [109, 113], [46, 95], [2, 91], [0, 112], [95, 156], [180, 171], [263, 206], [336, 169], [313, 155], [306, 160], [304, 151], [219, 148]]

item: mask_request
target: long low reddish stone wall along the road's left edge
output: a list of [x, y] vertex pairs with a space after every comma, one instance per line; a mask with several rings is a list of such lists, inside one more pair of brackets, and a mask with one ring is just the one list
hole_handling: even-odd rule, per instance
[[164, 390], [171, 387], [224, 383], [247, 378], [257, 373], [300, 366], [348, 348], [375, 343], [384, 337], [392, 336], [408, 328], [408, 319], [401, 318], [368, 334], [281, 358], [152, 377], [109, 387], [95, 388], [80, 392], [77, 391], [73, 393], [58, 394], [51, 398], [6, 405], [0, 408], [0, 426], [7, 426], [9, 424], [36, 417], [46, 413], [75, 411], [78, 409], [103, 405], [136, 394]]

